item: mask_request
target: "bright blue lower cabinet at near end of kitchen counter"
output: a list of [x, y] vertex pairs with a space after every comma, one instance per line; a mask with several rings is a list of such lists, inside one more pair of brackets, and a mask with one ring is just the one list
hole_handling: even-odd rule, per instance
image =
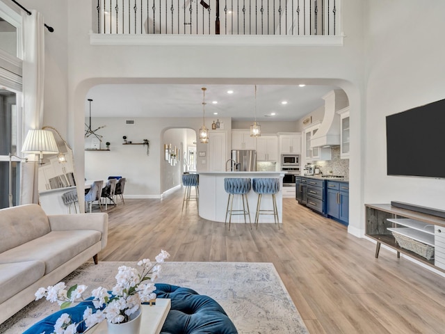
[[343, 225], [349, 224], [349, 184], [327, 181], [326, 214]]

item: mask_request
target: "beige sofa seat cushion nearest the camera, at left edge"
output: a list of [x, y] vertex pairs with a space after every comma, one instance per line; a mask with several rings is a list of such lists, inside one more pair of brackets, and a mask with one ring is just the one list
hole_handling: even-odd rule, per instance
[[0, 264], [0, 303], [35, 283], [43, 274], [41, 261]]

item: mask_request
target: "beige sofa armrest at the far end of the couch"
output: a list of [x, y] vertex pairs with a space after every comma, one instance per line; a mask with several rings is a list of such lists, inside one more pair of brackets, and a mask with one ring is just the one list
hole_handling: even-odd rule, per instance
[[51, 231], [96, 230], [102, 232], [102, 249], [108, 241], [108, 214], [54, 214], [48, 216]]

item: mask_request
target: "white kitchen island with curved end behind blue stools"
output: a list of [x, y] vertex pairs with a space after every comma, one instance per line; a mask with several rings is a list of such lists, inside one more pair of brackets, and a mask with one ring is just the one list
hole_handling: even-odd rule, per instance
[[[209, 221], [225, 221], [227, 209], [227, 200], [229, 194], [224, 189], [224, 179], [226, 177], [275, 177], [280, 178], [280, 184], [283, 184], [284, 172], [200, 172], [200, 217]], [[279, 221], [282, 223], [282, 186], [276, 194]], [[250, 209], [250, 219], [252, 223], [255, 220], [257, 210], [258, 194], [250, 189], [248, 193], [248, 203]], [[241, 196], [235, 196], [233, 209], [243, 209]], [[261, 209], [273, 209], [272, 196], [264, 195], [261, 197]], [[227, 221], [229, 218], [227, 217]], [[259, 223], [274, 223], [273, 215], [260, 215]], [[243, 215], [232, 215], [232, 223], [244, 223]], [[247, 218], [247, 223], [249, 220]]]

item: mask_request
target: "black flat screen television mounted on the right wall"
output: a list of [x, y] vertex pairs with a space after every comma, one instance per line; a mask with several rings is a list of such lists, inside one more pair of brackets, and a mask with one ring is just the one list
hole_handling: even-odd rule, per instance
[[445, 100], [387, 116], [387, 175], [445, 177]]

